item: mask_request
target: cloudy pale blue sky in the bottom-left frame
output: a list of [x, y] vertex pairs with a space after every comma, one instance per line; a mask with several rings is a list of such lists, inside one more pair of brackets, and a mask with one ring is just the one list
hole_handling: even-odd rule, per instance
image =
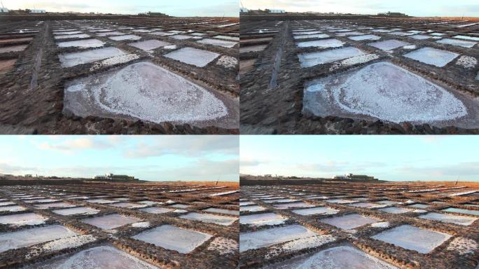
[[128, 174], [147, 181], [238, 181], [233, 135], [0, 136], [0, 174], [94, 177]]

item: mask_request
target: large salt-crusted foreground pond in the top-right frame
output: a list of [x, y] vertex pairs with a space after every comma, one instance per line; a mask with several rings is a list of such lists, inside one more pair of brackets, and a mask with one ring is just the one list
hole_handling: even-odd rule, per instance
[[303, 111], [316, 116], [366, 115], [394, 123], [432, 123], [468, 114], [451, 92], [389, 62], [307, 83]]

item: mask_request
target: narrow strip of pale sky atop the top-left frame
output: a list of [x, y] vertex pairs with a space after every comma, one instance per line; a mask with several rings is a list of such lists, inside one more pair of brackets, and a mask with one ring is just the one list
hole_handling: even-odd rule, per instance
[[176, 17], [238, 17], [238, 0], [1, 0], [9, 9], [36, 8], [47, 12], [137, 14], [148, 11]]

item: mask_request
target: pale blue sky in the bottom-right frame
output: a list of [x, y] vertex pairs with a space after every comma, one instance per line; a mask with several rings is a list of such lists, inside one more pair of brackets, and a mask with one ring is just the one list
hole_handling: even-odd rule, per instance
[[240, 173], [479, 181], [479, 136], [240, 136]]

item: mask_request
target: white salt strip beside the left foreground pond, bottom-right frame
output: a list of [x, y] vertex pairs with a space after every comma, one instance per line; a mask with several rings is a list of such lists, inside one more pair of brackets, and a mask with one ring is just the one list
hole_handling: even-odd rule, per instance
[[317, 235], [311, 237], [300, 238], [298, 240], [293, 240], [290, 242], [286, 242], [282, 245], [272, 247], [268, 254], [266, 254], [266, 258], [270, 259], [275, 256], [278, 256], [282, 253], [291, 253], [295, 251], [299, 251], [302, 249], [311, 249], [314, 247], [320, 247], [324, 244], [328, 244], [334, 242], [336, 237], [333, 235]]

